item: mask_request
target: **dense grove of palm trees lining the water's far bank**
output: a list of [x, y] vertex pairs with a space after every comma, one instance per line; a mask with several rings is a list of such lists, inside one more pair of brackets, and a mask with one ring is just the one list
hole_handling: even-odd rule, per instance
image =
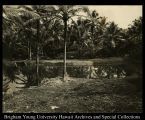
[[3, 58], [37, 58], [37, 75], [39, 59], [63, 58], [64, 73], [66, 58], [126, 56], [131, 73], [142, 71], [142, 17], [122, 29], [84, 6], [5, 5], [2, 27]]

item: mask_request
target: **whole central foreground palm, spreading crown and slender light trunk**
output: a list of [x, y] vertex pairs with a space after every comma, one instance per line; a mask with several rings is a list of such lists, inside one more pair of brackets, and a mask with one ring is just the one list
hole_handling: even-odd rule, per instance
[[67, 45], [67, 29], [68, 29], [68, 21], [72, 19], [72, 17], [77, 16], [79, 11], [85, 11], [86, 7], [76, 6], [76, 5], [55, 5], [48, 6], [49, 9], [51, 7], [51, 11], [54, 16], [63, 21], [64, 24], [64, 71], [63, 71], [63, 80], [66, 80], [67, 71], [66, 71], [66, 45]]

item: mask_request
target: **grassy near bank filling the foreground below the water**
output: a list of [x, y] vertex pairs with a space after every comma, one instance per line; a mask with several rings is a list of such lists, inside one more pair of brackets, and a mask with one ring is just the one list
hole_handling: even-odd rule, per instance
[[3, 97], [3, 112], [142, 112], [142, 94], [125, 80], [61, 78], [43, 80]]

